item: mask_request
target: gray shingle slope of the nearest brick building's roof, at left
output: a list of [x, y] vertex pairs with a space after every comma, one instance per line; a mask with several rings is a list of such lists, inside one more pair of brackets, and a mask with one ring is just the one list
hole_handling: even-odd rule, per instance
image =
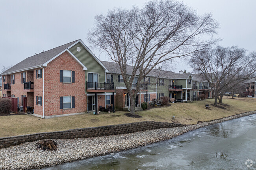
[[75, 41], [69, 42], [67, 44], [64, 44], [62, 46], [50, 49], [50, 50], [45, 51], [43, 53], [39, 53], [39, 54], [33, 55], [31, 57], [28, 57], [25, 60], [22, 60], [21, 62], [16, 64], [15, 66], [12, 66], [11, 68], [7, 69], [6, 71], [1, 73], [0, 75], [7, 75], [9, 73], [13, 73], [15, 71], [23, 70], [23, 69], [26, 69], [26, 68], [41, 66], [45, 62], [50, 60], [51, 58], [53, 58], [56, 55], [58, 55], [59, 53], [61, 53], [61, 51], [63, 51], [64, 49], [66, 49], [69, 46], [71, 46], [72, 44], [74, 44], [76, 41], [78, 41], [78, 40], [75, 40]]

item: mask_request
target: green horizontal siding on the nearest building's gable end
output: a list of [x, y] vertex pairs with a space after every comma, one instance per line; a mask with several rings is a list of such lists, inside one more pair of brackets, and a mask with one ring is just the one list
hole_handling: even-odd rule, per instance
[[[80, 52], [76, 50], [77, 47], [80, 47]], [[95, 58], [93, 58], [93, 56], [91, 56], [91, 54], [85, 48], [83, 48], [82, 44], [77, 43], [69, 50], [87, 67], [87, 70], [85, 70], [85, 86], [88, 72], [98, 73], [98, 82], [105, 82], [104, 68], [102, 68]], [[86, 89], [85, 93], [87, 93]]]

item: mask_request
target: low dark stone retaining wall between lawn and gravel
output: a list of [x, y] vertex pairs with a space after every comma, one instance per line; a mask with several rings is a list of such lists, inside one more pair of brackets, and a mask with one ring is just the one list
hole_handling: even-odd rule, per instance
[[117, 124], [109, 126], [100, 126], [94, 128], [81, 128], [81, 129], [70, 129], [66, 131], [58, 132], [44, 132], [34, 133], [28, 135], [19, 135], [11, 137], [0, 138], [0, 148], [6, 148], [26, 142], [37, 141], [41, 139], [74, 139], [83, 137], [97, 137], [107, 135], [120, 135], [126, 133], [134, 133], [145, 130], [153, 130], [159, 128], [172, 128], [182, 126], [182, 124], [168, 123], [168, 122], [134, 122], [128, 124]]

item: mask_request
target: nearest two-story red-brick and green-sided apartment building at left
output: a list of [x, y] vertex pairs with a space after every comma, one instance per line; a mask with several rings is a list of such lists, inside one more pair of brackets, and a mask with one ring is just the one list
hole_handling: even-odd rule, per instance
[[105, 81], [107, 72], [82, 40], [76, 40], [4, 71], [2, 96], [17, 97], [19, 106], [33, 107], [38, 117], [97, 112], [109, 100], [114, 106], [113, 83]]

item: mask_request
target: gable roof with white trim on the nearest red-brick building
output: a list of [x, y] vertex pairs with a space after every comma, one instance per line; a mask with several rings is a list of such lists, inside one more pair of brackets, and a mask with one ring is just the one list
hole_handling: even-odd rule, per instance
[[108, 69], [100, 62], [100, 60], [98, 60], [98, 58], [82, 42], [82, 40], [79, 39], [79, 40], [75, 40], [75, 41], [69, 42], [67, 44], [64, 44], [62, 46], [50, 49], [48, 51], [33, 55], [31, 57], [28, 57], [28, 58], [22, 60], [21, 62], [19, 62], [18, 64], [16, 64], [16, 65], [12, 66], [11, 68], [7, 69], [6, 71], [1, 73], [0, 75], [8, 75], [8, 74], [12, 74], [12, 73], [20, 72], [20, 71], [39, 68], [40, 66], [45, 66], [46, 67], [49, 62], [54, 60], [56, 57], [58, 57], [59, 55], [61, 55], [65, 51], [67, 51], [71, 55], [71, 57], [73, 57], [83, 67], [83, 70], [87, 70], [87, 68], [84, 66], [84, 64], [82, 64], [82, 62], [80, 62], [80, 60], [78, 60], [78, 58], [76, 58], [69, 51], [69, 49], [72, 46], [74, 46], [75, 44], [77, 44], [79, 42], [93, 56], [93, 58], [95, 58], [95, 60], [102, 66], [102, 68], [104, 68], [105, 71], [108, 72]]

